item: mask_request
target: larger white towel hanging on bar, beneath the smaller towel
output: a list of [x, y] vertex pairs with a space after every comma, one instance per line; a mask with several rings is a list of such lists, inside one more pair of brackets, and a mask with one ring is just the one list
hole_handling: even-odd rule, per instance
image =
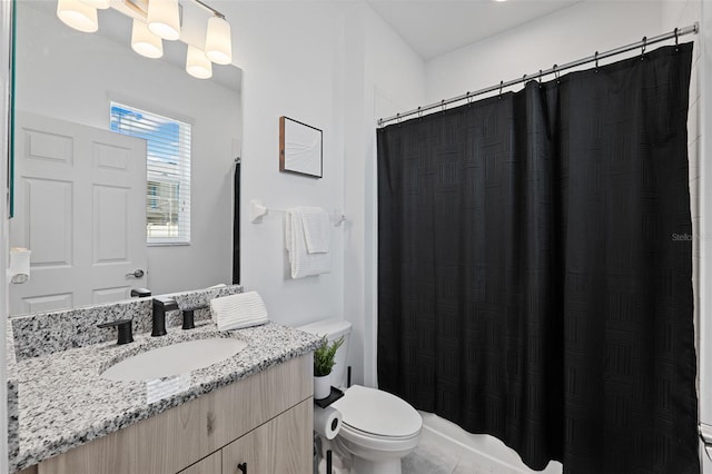
[[309, 254], [307, 251], [304, 218], [299, 208], [289, 209], [286, 213], [285, 239], [287, 251], [289, 253], [289, 263], [291, 264], [291, 278], [303, 278], [332, 271], [332, 256], [329, 253]]

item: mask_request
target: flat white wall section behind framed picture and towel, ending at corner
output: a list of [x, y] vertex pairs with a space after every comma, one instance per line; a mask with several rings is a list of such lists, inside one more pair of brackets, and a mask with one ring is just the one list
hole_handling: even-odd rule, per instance
[[[234, 63], [243, 68], [244, 140], [241, 274], [265, 299], [270, 318], [298, 325], [342, 317], [344, 227], [332, 228], [330, 274], [293, 280], [284, 213], [249, 220], [249, 201], [270, 208], [344, 208], [343, 95], [336, 68], [344, 18], [325, 2], [222, 2], [233, 26]], [[279, 117], [324, 131], [322, 179], [279, 172]]]

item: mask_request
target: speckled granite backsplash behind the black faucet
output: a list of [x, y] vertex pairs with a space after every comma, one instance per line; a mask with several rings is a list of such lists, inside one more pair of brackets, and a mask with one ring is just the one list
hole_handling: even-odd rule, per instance
[[[206, 288], [192, 292], [170, 294], [184, 307], [191, 302], [209, 303], [217, 296], [241, 293], [239, 285], [217, 288]], [[195, 306], [191, 306], [195, 307]], [[132, 319], [134, 334], [145, 334], [151, 330], [152, 306], [151, 298], [128, 299], [105, 305], [87, 306], [82, 308], [59, 312], [19, 315], [10, 318], [14, 334], [13, 354], [18, 362], [29, 357], [39, 357], [71, 348], [101, 344], [116, 339], [116, 328], [98, 328], [97, 325], [118, 319]], [[197, 322], [210, 318], [209, 310], [196, 312]], [[182, 324], [180, 310], [172, 310], [166, 315], [166, 326]]]

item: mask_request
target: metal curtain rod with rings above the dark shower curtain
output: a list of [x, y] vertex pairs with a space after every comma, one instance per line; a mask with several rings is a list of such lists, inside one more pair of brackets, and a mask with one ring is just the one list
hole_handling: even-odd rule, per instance
[[511, 86], [515, 86], [517, 83], [522, 83], [525, 82], [527, 80], [531, 79], [535, 79], [538, 78], [540, 80], [542, 79], [543, 76], [547, 76], [547, 75], [558, 75], [561, 71], [566, 70], [566, 69], [571, 69], [571, 68], [575, 68], [577, 66], [581, 65], [585, 65], [587, 62], [596, 62], [596, 67], [599, 65], [599, 61], [601, 59], [605, 59], [605, 58], [610, 58], [612, 56], [616, 56], [616, 55], [621, 55], [623, 52], [627, 52], [627, 51], [632, 51], [634, 49], [639, 49], [642, 48], [642, 52], [645, 52], [645, 48], [650, 45], [654, 45], [661, 41], [665, 41], [669, 39], [674, 38], [675, 39], [675, 45], [678, 43], [678, 38], [684, 34], [690, 34], [690, 33], [695, 33], [699, 31], [699, 26], [698, 22], [695, 22], [694, 24], [690, 26], [690, 27], [685, 27], [685, 28], [675, 28], [674, 30], [668, 32], [668, 33], [663, 33], [663, 34], [659, 34], [656, 37], [653, 38], [647, 38], [647, 37], [643, 37], [643, 39], [641, 41], [631, 43], [631, 45], [626, 45], [626, 46], [622, 46], [615, 49], [611, 49], [609, 51], [604, 51], [604, 52], [599, 52], [596, 51], [593, 56], [589, 56], [587, 58], [582, 58], [582, 59], [577, 59], [575, 61], [571, 61], [567, 62], [565, 65], [558, 66], [558, 65], [554, 65], [552, 68], [546, 69], [546, 70], [540, 70], [538, 72], [534, 72], [532, 75], [524, 75], [523, 77], [518, 78], [518, 79], [512, 79], [508, 81], [501, 81], [498, 85], [496, 86], [491, 86], [491, 87], [486, 87], [484, 89], [479, 89], [476, 90], [474, 92], [467, 92], [467, 93], [463, 93], [462, 96], [457, 96], [457, 97], [453, 97], [451, 99], [443, 99], [439, 102], [433, 102], [433, 103], [428, 103], [427, 106], [422, 106], [418, 107], [417, 109], [413, 109], [413, 110], [408, 110], [407, 112], [400, 112], [400, 113], [396, 113], [395, 116], [390, 116], [387, 118], [380, 118], [378, 119], [378, 127], [383, 127], [384, 125], [386, 125], [389, 121], [394, 121], [394, 120], [400, 120], [404, 117], [409, 117], [413, 115], [421, 115], [427, 110], [433, 110], [436, 109], [438, 107], [442, 107], [443, 109], [445, 108], [445, 106], [453, 103], [453, 102], [458, 102], [461, 100], [468, 100], [475, 96], [481, 96], [483, 93], [487, 93], [487, 92], [493, 92], [495, 90], [500, 90], [500, 92], [502, 92], [502, 89], [505, 87], [511, 87]]

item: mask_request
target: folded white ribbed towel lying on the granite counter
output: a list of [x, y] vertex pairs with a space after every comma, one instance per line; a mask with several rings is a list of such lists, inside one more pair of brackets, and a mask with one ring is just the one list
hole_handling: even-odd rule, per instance
[[212, 298], [210, 314], [218, 330], [259, 326], [269, 322], [265, 302], [257, 292]]

